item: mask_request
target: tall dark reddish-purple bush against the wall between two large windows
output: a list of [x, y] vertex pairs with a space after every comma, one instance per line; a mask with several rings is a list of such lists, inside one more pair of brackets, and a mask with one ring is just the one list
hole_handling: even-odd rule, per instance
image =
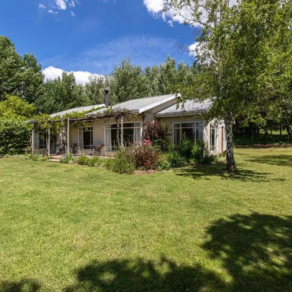
[[150, 140], [153, 146], [158, 146], [161, 151], [167, 151], [170, 145], [170, 126], [162, 121], [146, 121], [142, 129], [142, 137]]

